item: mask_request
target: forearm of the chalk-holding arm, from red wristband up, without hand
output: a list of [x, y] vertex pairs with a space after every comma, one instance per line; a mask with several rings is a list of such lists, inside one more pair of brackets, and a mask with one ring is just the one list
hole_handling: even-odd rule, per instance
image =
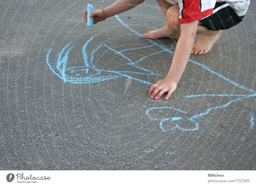
[[115, 3], [104, 8], [105, 17], [109, 18], [116, 14], [125, 12], [143, 3], [145, 0], [117, 0]]

